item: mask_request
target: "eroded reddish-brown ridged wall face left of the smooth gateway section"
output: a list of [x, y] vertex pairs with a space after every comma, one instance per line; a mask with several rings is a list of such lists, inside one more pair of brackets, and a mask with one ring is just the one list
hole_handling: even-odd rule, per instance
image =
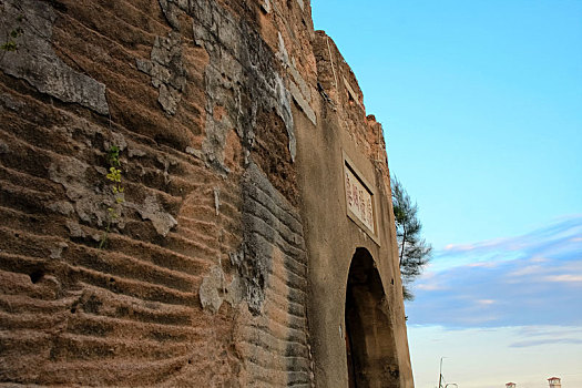
[[0, 382], [312, 385], [294, 81], [266, 39], [313, 31], [269, 12], [0, 1]]

